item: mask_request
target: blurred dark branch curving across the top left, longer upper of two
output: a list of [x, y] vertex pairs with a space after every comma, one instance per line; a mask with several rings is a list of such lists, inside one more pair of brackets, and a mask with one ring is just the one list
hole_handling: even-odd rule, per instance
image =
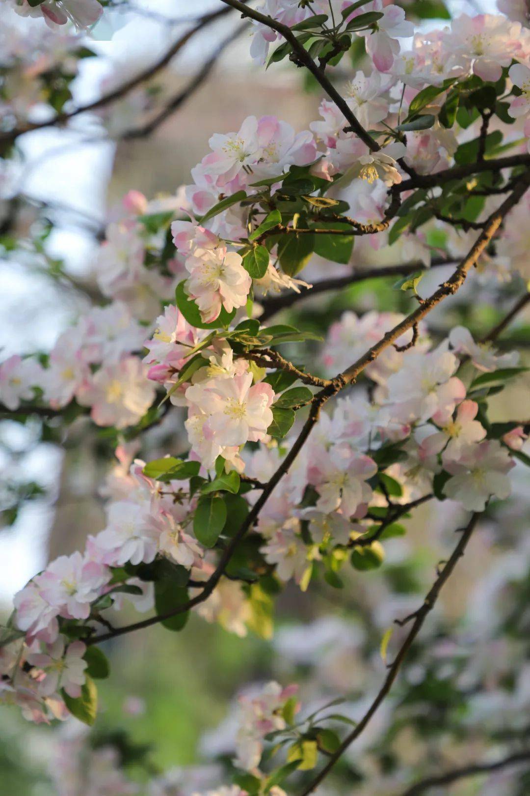
[[177, 39], [159, 60], [146, 68], [143, 72], [131, 77], [130, 80], [126, 80], [126, 82], [122, 83], [120, 86], [118, 86], [118, 88], [114, 88], [114, 91], [99, 97], [99, 100], [94, 100], [86, 105], [79, 105], [79, 107], [74, 108], [73, 111], [59, 113], [52, 119], [48, 119], [48, 121], [45, 122], [27, 123], [24, 127], [16, 127], [14, 130], [0, 133], [0, 144], [14, 142], [19, 135], [23, 135], [24, 133], [29, 133], [34, 130], [41, 130], [43, 127], [54, 127], [56, 124], [63, 124], [81, 113], [95, 111], [100, 107], [104, 107], [114, 102], [115, 100], [121, 99], [122, 96], [125, 96], [129, 92], [133, 91], [134, 88], [137, 88], [137, 86], [144, 83], [145, 80], [149, 80], [151, 77], [156, 75], [157, 72], [161, 72], [162, 69], [168, 66], [176, 54], [183, 49], [184, 45], [188, 44], [188, 41], [195, 36], [195, 33], [199, 33], [200, 30], [207, 27], [207, 25], [210, 25], [219, 18], [224, 17], [227, 13], [230, 13], [229, 8], [223, 8], [219, 11], [212, 11], [210, 14], [204, 14], [199, 18], [197, 24], [184, 33], [179, 39]]

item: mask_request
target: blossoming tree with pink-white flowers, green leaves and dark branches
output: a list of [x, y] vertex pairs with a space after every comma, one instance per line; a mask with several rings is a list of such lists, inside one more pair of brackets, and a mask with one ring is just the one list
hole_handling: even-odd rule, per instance
[[[105, 4], [11, 5], [2, 16], [0, 83], [6, 181], [17, 139], [111, 106], [182, 45], [149, 73], [75, 107], [68, 86], [79, 58], [91, 57], [90, 40], [81, 45], [61, 26], [90, 28]], [[333, 700], [311, 712], [300, 706], [296, 685], [270, 682], [242, 697], [235, 756], [216, 775], [224, 784], [211, 783], [222, 796], [278, 796], [281, 788], [307, 796], [335, 792], [346, 771], [337, 792], [349, 793], [355, 782], [344, 759], [420, 654], [421, 631], [455, 568], [465, 577], [459, 559], [484, 518], [494, 524], [502, 516], [511, 470], [530, 463], [528, 402], [502, 422], [491, 411], [493, 397], [525, 370], [506, 336], [529, 303], [528, 13], [516, 0], [500, 2], [498, 14], [453, 18], [438, 0], [217, 6], [183, 39], [221, 15], [241, 17], [250, 53], [272, 82], [275, 64], [291, 62], [318, 87], [319, 119], [296, 131], [274, 115], [249, 115], [238, 131], [212, 131], [210, 150], [176, 196], [149, 201], [131, 185], [99, 248], [99, 302], [50, 352], [0, 365], [3, 418], [38, 416], [43, 434], [72, 423], [91, 434], [103, 427], [108, 461], [117, 459], [106, 478], [104, 529], [14, 595], [0, 637], [0, 693], [30, 721], [73, 715], [93, 724], [110, 639], [157, 623], [185, 634], [191, 611], [238, 635], [268, 635], [273, 603], [289, 582], [308, 601], [322, 587], [340, 598], [352, 578], [362, 584], [366, 572], [383, 572], [385, 547], [408, 532], [416, 508], [429, 504], [447, 523], [456, 511], [462, 527], [423, 602], [390, 618], [384, 632], [373, 620], [386, 671], [362, 711], [352, 718]], [[38, 28], [35, 48], [11, 35], [15, 12], [52, 28]], [[63, 37], [68, 58], [57, 56], [54, 37]], [[47, 68], [32, 64], [36, 51]], [[198, 82], [158, 109], [143, 133]], [[52, 111], [44, 121], [33, 115], [37, 100]], [[2, 245], [12, 257], [20, 201], [6, 193]], [[427, 272], [433, 287], [423, 290]], [[393, 298], [370, 306], [377, 294], [366, 294], [366, 311], [354, 311], [350, 285], [368, 279], [386, 279]], [[485, 284], [493, 314], [477, 329], [470, 307]], [[300, 315], [294, 325], [306, 299], [333, 291], [346, 296], [344, 311], [326, 324], [315, 299], [314, 316]], [[288, 311], [291, 317], [275, 318]], [[164, 455], [138, 458], [145, 435], [171, 416], [185, 447], [168, 439]], [[427, 542], [430, 533], [424, 529]], [[524, 583], [524, 572], [510, 583], [517, 577]], [[525, 598], [528, 584], [513, 600], [527, 612], [528, 630]], [[121, 621], [124, 603], [146, 618]], [[505, 617], [490, 638], [520, 640], [521, 621]], [[439, 645], [442, 638], [440, 627]], [[447, 660], [462, 671], [456, 630], [446, 638], [453, 645]], [[368, 659], [373, 652], [366, 642]], [[521, 665], [519, 650], [512, 678]], [[487, 681], [476, 674], [466, 687], [487, 690]], [[416, 698], [414, 688], [410, 680], [402, 686], [404, 703]], [[381, 766], [366, 793], [419, 794], [496, 767], [528, 767], [517, 722], [513, 736], [499, 739], [496, 732], [509, 729], [502, 722], [486, 732], [493, 756], [483, 760], [457, 759], [436, 775], [428, 760], [400, 767], [389, 751], [402, 720], [393, 704], [387, 729], [370, 741], [380, 744]], [[437, 732], [460, 738], [454, 718], [441, 711]], [[95, 755], [89, 774], [103, 766], [106, 790], [100, 782], [83, 792], [134, 792], [113, 754]], [[415, 782], [417, 772], [423, 778]], [[520, 782], [521, 790], [516, 783], [491, 792], [528, 792], [528, 778]], [[151, 792], [173, 793], [181, 784], [161, 776]]]

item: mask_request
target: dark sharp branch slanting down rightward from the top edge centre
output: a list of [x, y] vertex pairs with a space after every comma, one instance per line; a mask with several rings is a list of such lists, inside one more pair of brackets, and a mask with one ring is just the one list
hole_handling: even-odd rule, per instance
[[280, 33], [280, 35], [284, 37], [285, 41], [288, 41], [292, 46], [292, 51], [296, 54], [296, 60], [300, 61], [300, 64], [304, 64], [304, 66], [308, 68], [309, 72], [311, 72], [311, 75], [315, 77], [315, 79], [327, 93], [327, 96], [334, 101], [335, 105], [339, 108], [339, 111], [342, 111], [342, 115], [346, 119], [346, 122], [350, 125], [352, 131], [358, 135], [363, 142], [366, 143], [366, 146], [368, 146], [370, 151], [377, 152], [377, 150], [381, 149], [381, 146], [379, 146], [377, 141], [375, 141], [372, 136], [366, 132], [365, 128], [362, 127], [362, 124], [359, 123], [357, 117], [351, 111], [348, 103], [346, 103], [346, 100], [340, 96], [339, 92], [331, 83], [331, 81], [327, 79], [327, 76], [323, 73], [322, 69], [315, 64], [315, 61], [311, 58], [308, 51], [300, 44], [288, 25], [282, 25], [281, 22], [278, 22], [272, 17], [261, 14], [259, 11], [256, 11], [253, 8], [247, 8], [242, 2], [239, 2], [239, 0], [221, 0], [221, 2], [225, 3], [226, 6], [230, 6], [231, 8], [241, 11], [242, 16], [250, 17], [257, 22], [261, 22], [262, 25], [267, 25], [267, 27], [276, 30], [277, 33]]

